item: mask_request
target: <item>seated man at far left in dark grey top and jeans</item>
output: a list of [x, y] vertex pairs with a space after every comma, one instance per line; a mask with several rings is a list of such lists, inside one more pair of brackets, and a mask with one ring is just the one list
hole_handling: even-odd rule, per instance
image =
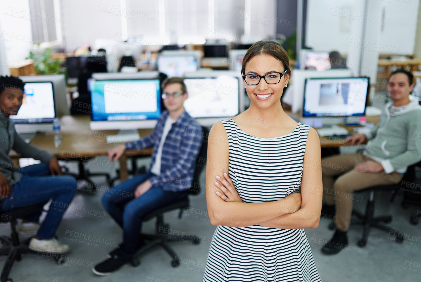
[[[69, 245], [60, 243], [53, 236], [75, 195], [77, 183], [75, 178], [61, 175], [61, 168], [55, 157], [27, 144], [16, 133], [9, 116], [17, 114], [23, 99], [24, 82], [13, 76], [0, 76], [0, 212], [52, 199], [41, 226], [37, 223], [40, 214], [33, 214], [30, 219], [27, 218], [29, 222], [21, 225], [20, 229], [27, 234], [36, 232], [29, 243], [30, 249], [65, 253], [69, 251]], [[15, 167], [9, 157], [11, 149], [42, 163]]]

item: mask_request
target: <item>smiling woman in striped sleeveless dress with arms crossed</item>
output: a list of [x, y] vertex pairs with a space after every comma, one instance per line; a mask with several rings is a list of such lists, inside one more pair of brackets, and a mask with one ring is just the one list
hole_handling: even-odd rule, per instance
[[220, 138], [208, 144], [213, 162], [206, 167], [206, 201], [218, 227], [203, 281], [318, 282], [303, 228], [316, 228], [320, 220], [319, 138], [282, 110], [290, 69], [280, 44], [253, 44], [242, 75], [249, 109], [210, 131]]

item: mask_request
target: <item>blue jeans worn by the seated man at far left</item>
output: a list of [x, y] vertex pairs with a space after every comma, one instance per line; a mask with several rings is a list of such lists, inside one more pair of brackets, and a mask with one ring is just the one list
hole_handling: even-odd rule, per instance
[[[51, 176], [48, 164], [44, 163], [22, 167], [20, 171], [23, 174], [22, 179], [11, 187], [11, 194], [3, 199], [1, 210], [31, 206], [52, 198], [50, 209], [37, 233], [40, 240], [51, 239], [59, 227], [64, 211], [75, 196], [77, 182], [68, 175]], [[25, 219], [37, 222], [39, 216], [40, 212]]]

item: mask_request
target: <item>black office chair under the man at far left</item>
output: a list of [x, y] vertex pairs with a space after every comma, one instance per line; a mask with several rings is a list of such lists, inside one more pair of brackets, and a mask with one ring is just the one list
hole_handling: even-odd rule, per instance
[[[1, 282], [13, 282], [13, 280], [9, 278], [9, 274], [12, 270], [13, 263], [15, 261], [21, 261], [21, 254], [38, 253], [37, 251], [32, 251], [29, 248], [29, 241], [32, 239], [32, 237], [24, 240], [23, 242], [20, 242], [18, 232], [16, 231], [16, 219], [24, 218], [35, 211], [43, 210], [43, 206], [46, 203], [47, 202], [32, 206], [25, 206], [22, 208], [11, 209], [10, 211], [3, 211], [0, 213], [0, 222], [10, 222], [11, 227], [10, 237], [0, 236], [0, 242], [2, 244], [2, 247], [0, 248], [0, 256], [8, 256], [3, 266], [3, 271], [0, 275]], [[56, 259], [57, 264], [63, 263], [62, 258]]]

